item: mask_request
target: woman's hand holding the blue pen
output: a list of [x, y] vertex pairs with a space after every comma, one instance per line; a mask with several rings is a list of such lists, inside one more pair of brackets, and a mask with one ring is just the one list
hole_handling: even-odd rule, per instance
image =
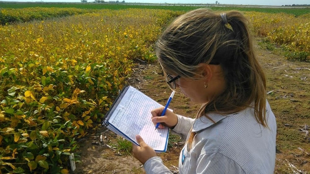
[[156, 125], [157, 123], [161, 123], [158, 126], [158, 128], [160, 129], [163, 129], [164, 126], [172, 128], [178, 123], [178, 116], [168, 109], [166, 110], [165, 115], [161, 116], [164, 108], [165, 107], [160, 107], [151, 111], [152, 122], [154, 123], [154, 125]]

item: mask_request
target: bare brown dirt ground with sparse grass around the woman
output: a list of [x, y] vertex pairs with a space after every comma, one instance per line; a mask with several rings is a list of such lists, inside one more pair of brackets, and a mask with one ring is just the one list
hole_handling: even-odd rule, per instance
[[[261, 45], [261, 44], [260, 44]], [[310, 63], [287, 61], [277, 51], [256, 46], [257, 54], [267, 74], [268, 101], [277, 119], [277, 159], [275, 174], [310, 172]], [[170, 95], [158, 63], [137, 63], [128, 84], [136, 87], [155, 101], [165, 105]], [[175, 113], [194, 117], [200, 105], [176, 93], [170, 104]], [[100, 135], [103, 141], [100, 142]], [[79, 140], [81, 145], [77, 174], [140, 174], [141, 163], [130, 154], [117, 153], [110, 145], [116, 135], [100, 127]], [[183, 143], [176, 141], [166, 153], [158, 154], [164, 164], [177, 171], [179, 152]]]

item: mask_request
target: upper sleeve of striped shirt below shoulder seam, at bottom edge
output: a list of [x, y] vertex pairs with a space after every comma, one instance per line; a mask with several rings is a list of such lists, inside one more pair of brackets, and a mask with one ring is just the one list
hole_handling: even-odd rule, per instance
[[221, 153], [200, 155], [197, 160], [197, 174], [245, 174], [245, 171], [232, 159]]

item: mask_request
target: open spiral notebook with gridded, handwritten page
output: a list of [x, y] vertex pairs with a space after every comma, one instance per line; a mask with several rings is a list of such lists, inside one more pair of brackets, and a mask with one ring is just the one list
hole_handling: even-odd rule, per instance
[[132, 86], [125, 86], [118, 95], [102, 125], [139, 146], [135, 136], [140, 135], [157, 153], [166, 152], [169, 128], [155, 130], [151, 110], [161, 104]]

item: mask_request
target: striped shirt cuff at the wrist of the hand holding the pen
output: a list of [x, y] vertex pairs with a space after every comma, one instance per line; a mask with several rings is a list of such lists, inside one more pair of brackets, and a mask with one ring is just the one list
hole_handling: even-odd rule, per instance
[[178, 134], [185, 141], [195, 119], [184, 117], [182, 115], [177, 115], [177, 117], [178, 123], [172, 129], [172, 133]]

